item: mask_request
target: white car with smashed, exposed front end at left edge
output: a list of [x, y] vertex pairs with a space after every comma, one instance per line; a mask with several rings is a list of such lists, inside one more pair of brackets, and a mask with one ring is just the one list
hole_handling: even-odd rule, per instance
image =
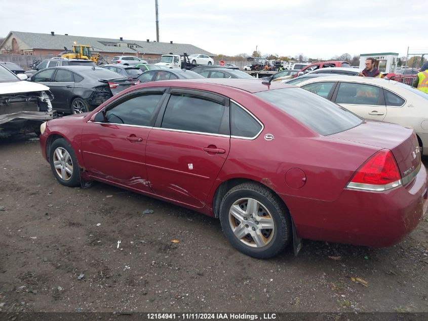
[[0, 65], [0, 137], [40, 134], [40, 125], [53, 118], [49, 87], [23, 81], [26, 78]]

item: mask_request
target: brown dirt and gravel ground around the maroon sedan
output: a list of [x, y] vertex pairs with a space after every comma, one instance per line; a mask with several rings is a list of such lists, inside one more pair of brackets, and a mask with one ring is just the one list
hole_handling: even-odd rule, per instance
[[215, 219], [61, 186], [29, 138], [0, 140], [2, 311], [428, 311], [426, 216], [391, 248], [305, 240], [298, 257], [256, 260]]

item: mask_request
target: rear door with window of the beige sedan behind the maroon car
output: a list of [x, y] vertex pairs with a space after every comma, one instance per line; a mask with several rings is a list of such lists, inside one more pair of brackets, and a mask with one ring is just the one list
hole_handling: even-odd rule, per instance
[[339, 83], [334, 102], [366, 118], [383, 120], [386, 105], [381, 88], [360, 83]]

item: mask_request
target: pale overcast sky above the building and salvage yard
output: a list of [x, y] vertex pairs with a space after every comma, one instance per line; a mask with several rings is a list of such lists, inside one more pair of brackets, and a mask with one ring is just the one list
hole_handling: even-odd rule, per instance
[[[252, 54], [257, 46], [262, 54], [328, 59], [342, 53], [405, 56], [408, 46], [428, 48], [426, 0], [158, 3], [161, 42], [192, 44], [214, 54]], [[154, 0], [4, 1], [0, 37], [16, 30], [156, 40], [154, 7]]]

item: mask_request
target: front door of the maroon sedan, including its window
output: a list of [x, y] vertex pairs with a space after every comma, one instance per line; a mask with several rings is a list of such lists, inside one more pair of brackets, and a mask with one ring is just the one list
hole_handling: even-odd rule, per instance
[[158, 90], [129, 94], [104, 109], [105, 121], [86, 124], [82, 153], [91, 176], [135, 190], [151, 191], [145, 149], [163, 96], [162, 89]]

